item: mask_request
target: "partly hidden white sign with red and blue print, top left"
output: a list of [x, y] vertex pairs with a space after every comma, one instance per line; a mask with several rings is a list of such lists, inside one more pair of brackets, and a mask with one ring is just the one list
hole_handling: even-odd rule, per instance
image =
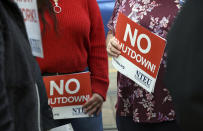
[[39, 25], [38, 8], [36, 0], [14, 0], [24, 17], [32, 54], [43, 57], [41, 31]]

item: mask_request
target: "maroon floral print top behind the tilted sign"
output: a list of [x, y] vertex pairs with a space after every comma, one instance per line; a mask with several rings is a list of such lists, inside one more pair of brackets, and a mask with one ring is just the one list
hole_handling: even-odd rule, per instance
[[[179, 8], [179, 0], [116, 0], [108, 27], [115, 32], [118, 12], [121, 12], [151, 32], [166, 38]], [[175, 119], [172, 98], [163, 82], [166, 57], [164, 53], [154, 93], [145, 91], [118, 72], [118, 115], [131, 116], [135, 122], [146, 123]]]

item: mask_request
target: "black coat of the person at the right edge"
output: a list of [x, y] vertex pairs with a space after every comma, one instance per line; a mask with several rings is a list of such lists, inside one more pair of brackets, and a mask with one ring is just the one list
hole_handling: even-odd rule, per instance
[[203, 0], [187, 0], [168, 34], [166, 86], [184, 131], [203, 131]]

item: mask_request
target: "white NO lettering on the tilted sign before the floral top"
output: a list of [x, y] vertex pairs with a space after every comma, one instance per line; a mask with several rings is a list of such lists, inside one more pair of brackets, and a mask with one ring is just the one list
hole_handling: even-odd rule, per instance
[[[125, 34], [124, 34], [124, 38], [123, 40], [126, 42], [127, 41], [127, 36], [130, 37], [130, 43], [131, 46], [135, 47], [135, 43], [136, 43], [136, 38], [137, 38], [137, 33], [138, 30], [135, 29], [134, 30], [134, 34], [132, 34], [132, 30], [129, 24], [126, 25], [126, 29], [125, 29]], [[147, 40], [147, 48], [143, 49], [141, 47], [141, 40], [142, 39], [146, 39]], [[150, 38], [146, 35], [146, 34], [140, 34], [137, 38], [137, 48], [139, 49], [140, 52], [142, 52], [143, 54], [147, 54], [150, 49], [151, 49], [151, 40]]]

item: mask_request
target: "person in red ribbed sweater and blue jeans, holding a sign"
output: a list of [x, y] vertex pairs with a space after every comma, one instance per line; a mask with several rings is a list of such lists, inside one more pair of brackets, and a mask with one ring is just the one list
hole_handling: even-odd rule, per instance
[[40, 7], [44, 58], [37, 61], [42, 75], [65, 75], [89, 70], [92, 97], [83, 109], [89, 115], [96, 114], [89, 118], [65, 119], [59, 124], [70, 122], [75, 131], [102, 131], [101, 109], [108, 89], [108, 57], [97, 2], [47, 1], [51, 2], [51, 8], [46, 8], [47, 4]]

